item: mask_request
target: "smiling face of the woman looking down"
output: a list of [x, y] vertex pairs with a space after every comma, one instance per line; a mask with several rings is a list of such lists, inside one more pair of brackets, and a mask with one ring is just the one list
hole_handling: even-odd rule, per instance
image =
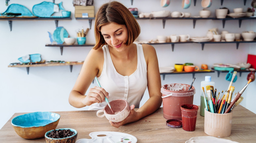
[[101, 26], [100, 31], [107, 44], [117, 51], [122, 51], [127, 47], [124, 44], [128, 39], [128, 30], [125, 25], [110, 23]]

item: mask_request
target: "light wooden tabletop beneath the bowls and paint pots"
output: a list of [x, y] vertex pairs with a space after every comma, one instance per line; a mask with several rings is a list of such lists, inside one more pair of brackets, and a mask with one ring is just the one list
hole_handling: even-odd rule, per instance
[[[200, 111], [200, 109], [198, 110]], [[112, 127], [108, 120], [98, 118], [96, 111], [62, 111], [54, 112], [60, 114], [58, 128], [73, 128], [78, 132], [77, 139], [91, 138], [89, 133], [99, 131], [122, 132], [134, 135], [138, 143], [184, 143], [191, 137], [208, 136], [204, 133], [204, 117], [198, 112], [196, 130], [184, 131], [182, 128], [170, 128], [166, 126], [163, 118], [163, 110], [159, 108], [155, 113], [137, 122], [123, 125], [119, 128]], [[25, 113], [15, 113], [11, 119]], [[15, 133], [11, 125], [11, 119], [0, 130], [1, 143], [43, 143], [45, 138], [24, 139]], [[255, 142], [256, 139], [256, 114], [238, 105], [233, 110], [232, 130], [229, 137], [223, 137], [240, 143]]]

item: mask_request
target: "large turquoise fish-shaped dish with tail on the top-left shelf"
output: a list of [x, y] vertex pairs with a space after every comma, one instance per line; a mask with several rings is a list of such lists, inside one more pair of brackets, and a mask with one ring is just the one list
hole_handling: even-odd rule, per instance
[[54, 13], [54, 7], [56, 6], [61, 10], [65, 10], [62, 6], [62, 2], [56, 5], [52, 2], [44, 1], [40, 4], [34, 5], [32, 8], [32, 12], [34, 13], [35, 16], [38, 16], [38, 17], [55, 17], [51, 15]]

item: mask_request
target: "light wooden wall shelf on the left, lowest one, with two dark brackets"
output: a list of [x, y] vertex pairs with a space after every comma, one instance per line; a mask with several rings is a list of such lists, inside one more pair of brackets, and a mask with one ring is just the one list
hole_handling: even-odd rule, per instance
[[83, 62], [70, 62], [70, 63], [50, 63], [50, 64], [24, 64], [24, 65], [9, 65], [8, 67], [17, 67], [22, 68], [25, 67], [27, 69], [27, 73], [29, 74], [30, 67], [50, 67], [50, 66], [70, 66], [70, 72], [72, 72], [73, 65], [82, 65]]

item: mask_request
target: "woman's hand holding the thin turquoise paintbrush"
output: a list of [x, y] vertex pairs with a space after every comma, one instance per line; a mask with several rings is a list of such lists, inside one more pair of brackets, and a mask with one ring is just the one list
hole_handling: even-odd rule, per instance
[[94, 87], [89, 89], [89, 93], [82, 100], [82, 103], [89, 106], [93, 103], [102, 103], [105, 101], [105, 97], [109, 98], [108, 92], [104, 88]]

